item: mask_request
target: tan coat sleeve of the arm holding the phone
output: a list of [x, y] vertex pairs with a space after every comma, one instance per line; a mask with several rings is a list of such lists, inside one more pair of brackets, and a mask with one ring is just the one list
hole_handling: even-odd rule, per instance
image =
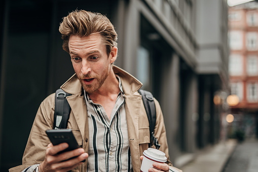
[[44, 161], [46, 148], [50, 143], [46, 134], [47, 129], [53, 129], [54, 96], [51, 94], [40, 105], [36, 113], [27, 145], [22, 158], [22, 165], [11, 168], [9, 171], [22, 171], [28, 166], [40, 164]]

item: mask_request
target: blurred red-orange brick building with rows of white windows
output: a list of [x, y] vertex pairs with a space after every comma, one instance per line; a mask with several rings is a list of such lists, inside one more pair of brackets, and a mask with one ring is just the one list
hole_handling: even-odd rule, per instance
[[229, 8], [229, 74], [231, 94], [239, 104], [231, 107], [235, 116], [232, 133], [255, 134], [258, 115], [258, 3], [249, 2]]

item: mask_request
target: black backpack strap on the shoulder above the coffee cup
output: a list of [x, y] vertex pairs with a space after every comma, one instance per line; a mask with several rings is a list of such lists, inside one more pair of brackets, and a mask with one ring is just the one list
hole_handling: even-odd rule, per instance
[[157, 138], [154, 135], [154, 129], [156, 125], [156, 107], [155, 107], [155, 102], [154, 102], [154, 97], [151, 92], [146, 91], [146, 90], [138, 90], [142, 97], [143, 105], [146, 111], [146, 114], [148, 116], [149, 120], [149, 125], [150, 125], [150, 145], [155, 145], [156, 149], [160, 148], [159, 142]]

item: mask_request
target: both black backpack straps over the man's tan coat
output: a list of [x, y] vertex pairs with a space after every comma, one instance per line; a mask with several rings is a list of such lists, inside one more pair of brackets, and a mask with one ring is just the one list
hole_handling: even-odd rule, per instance
[[[138, 90], [142, 96], [143, 105], [148, 116], [150, 125], [150, 144], [149, 147], [155, 145], [156, 149], [160, 148], [159, 142], [154, 135], [156, 125], [156, 107], [154, 97], [151, 92], [146, 90]], [[66, 99], [71, 94], [63, 91], [61, 88], [56, 90], [55, 96], [55, 112], [54, 112], [54, 129], [67, 128], [68, 119], [70, 116], [71, 107]]]

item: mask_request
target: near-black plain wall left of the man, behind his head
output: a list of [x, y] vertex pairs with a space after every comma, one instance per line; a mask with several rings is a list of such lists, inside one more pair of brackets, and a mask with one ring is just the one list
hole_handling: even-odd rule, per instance
[[[41, 101], [74, 73], [68, 53], [62, 50], [58, 31], [62, 17], [73, 10], [85, 9], [112, 19], [113, 2], [1, 1], [1, 5], [8, 4], [1, 6], [5, 10], [1, 10], [1, 23], [4, 23], [0, 44], [1, 76], [4, 77], [0, 94], [3, 107], [0, 171], [21, 164]], [[7, 16], [4, 15], [6, 10]]]

